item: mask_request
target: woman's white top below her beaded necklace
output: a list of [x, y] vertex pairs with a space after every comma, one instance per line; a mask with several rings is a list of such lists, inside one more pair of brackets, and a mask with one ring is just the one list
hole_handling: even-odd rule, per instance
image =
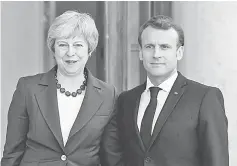
[[82, 93], [76, 97], [67, 97], [65, 93], [61, 93], [57, 90], [60, 126], [64, 145], [66, 145], [71, 128], [81, 108], [85, 91], [86, 90], [82, 91]]

